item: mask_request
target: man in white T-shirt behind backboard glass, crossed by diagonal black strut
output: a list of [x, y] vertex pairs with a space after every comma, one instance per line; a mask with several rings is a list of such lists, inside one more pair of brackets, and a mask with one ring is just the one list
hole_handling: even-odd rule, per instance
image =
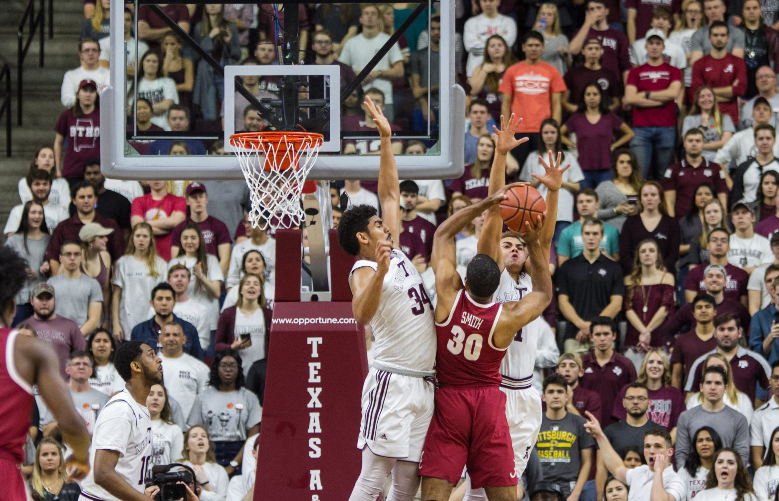
[[[495, 1], [495, 0], [492, 0]], [[360, 5], [360, 24], [362, 32], [347, 40], [344, 48], [341, 50], [338, 61], [349, 65], [358, 75], [368, 62], [371, 61], [379, 48], [382, 47], [390, 35], [382, 33], [380, 30], [379, 7], [375, 4]], [[395, 116], [393, 110], [393, 89], [392, 79], [402, 77], [403, 73], [403, 54], [400, 53], [400, 47], [397, 43], [393, 44], [390, 51], [368, 73], [362, 81], [364, 90], [371, 87], [381, 90], [386, 96], [384, 103], [384, 115], [392, 122]]]

